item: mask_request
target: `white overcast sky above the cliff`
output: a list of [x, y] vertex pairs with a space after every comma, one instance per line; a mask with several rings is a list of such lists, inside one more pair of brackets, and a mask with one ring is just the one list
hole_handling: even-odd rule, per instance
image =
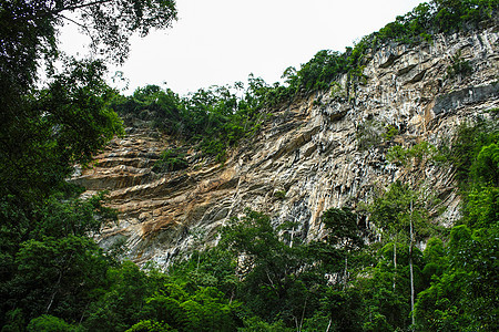
[[[167, 30], [132, 38], [122, 71], [131, 94], [156, 84], [183, 95], [200, 87], [267, 83], [317, 51], [345, 51], [422, 0], [177, 0], [179, 21]], [[84, 53], [77, 29], [64, 27], [62, 49]], [[166, 82], [166, 83], [164, 83]], [[113, 84], [111, 84], [113, 85]], [[121, 87], [121, 86], [120, 86]]]

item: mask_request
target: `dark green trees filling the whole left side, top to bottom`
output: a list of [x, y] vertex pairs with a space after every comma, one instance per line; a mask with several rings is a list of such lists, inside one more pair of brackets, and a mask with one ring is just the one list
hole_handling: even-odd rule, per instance
[[0, 3], [0, 325], [6, 331], [72, 330], [116, 264], [90, 237], [115, 212], [103, 207], [103, 194], [78, 199], [81, 188], [67, 183], [74, 164], [85, 166], [123, 134], [109, 107], [116, 92], [104, 82], [103, 61], [61, 56], [59, 28], [78, 21], [98, 53], [123, 62], [131, 33], [170, 27], [175, 17], [167, 0]]

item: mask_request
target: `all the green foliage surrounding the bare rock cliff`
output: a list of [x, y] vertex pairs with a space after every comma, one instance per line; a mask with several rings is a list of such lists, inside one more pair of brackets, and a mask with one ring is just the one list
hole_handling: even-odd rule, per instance
[[[397, 181], [361, 211], [326, 210], [317, 241], [304, 242], [306, 230], [294, 222], [275, 228], [271, 217], [247, 210], [222, 228], [217, 246], [190, 251], [166, 271], [141, 270], [113, 256], [120, 248], [103, 252], [92, 239], [116, 218], [102, 205], [105, 194], [81, 199], [82, 188], [65, 181], [72, 165], [86, 165], [123, 133], [114, 111], [222, 160], [227, 147], [258, 131], [265, 107], [322, 89], [350, 97], [366, 79], [369, 48], [475, 29], [497, 9], [497, 0], [422, 3], [344, 54], [320, 51], [301, 70], [286, 70], [286, 85], [251, 76], [244, 91], [236, 84], [180, 97], [150, 85], [123, 97], [104, 83], [100, 61], [65, 59], [54, 70], [58, 27], [65, 13], [80, 14], [93, 46], [120, 62], [130, 33], [170, 25], [173, 1], [1, 2], [1, 331], [497, 331], [497, 120], [464, 124], [445, 154], [464, 201], [462, 219], [447, 231], [432, 225], [428, 190]], [[45, 82], [37, 80], [42, 60]], [[448, 74], [466, 74], [466, 63], [454, 60]], [[345, 73], [346, 91], [337, 91], [334, 80]], [[379, 143], [370, 132], [385, 141], [396, 135], [371, 127], [365, 148]], [[435, 155], [421, 143], [394, 146], [387, 157], [410, 172]], [[183, 151], [169, 149], [154, 170], [186, 166]], [[425, 240], [421, 252], [415, 242]]]

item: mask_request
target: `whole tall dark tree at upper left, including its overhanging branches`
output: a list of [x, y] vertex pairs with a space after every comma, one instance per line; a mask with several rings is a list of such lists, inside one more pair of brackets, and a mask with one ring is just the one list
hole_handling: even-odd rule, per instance
[[[175, 18], [170, 0], [1, 2], [2, 198], [12, 195], [21, 200], [18, 206], [27, 206], [23, 196], [44, 197], [64, 180], [71, 164], [88, 162], [120, 133], [116, 115], [106, 107], [113, 91], [103, 82], [101, 61], [68, 60], [63, 72], [55, 74], [58, 29], [77, 22], [92, 38], [94, 51], [101, 49], [122, 62], [131, 33], [145, 35], [151, 28], [170, 27]], [[38, 80], [42, 60], [47, 84]], [[37, 84], [45, 87], [35, 89]]]

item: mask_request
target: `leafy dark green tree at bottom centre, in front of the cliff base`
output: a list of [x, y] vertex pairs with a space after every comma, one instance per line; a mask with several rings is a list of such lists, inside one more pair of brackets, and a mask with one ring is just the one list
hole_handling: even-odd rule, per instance
[[247, 210], [222, 230], [220, 246], [237, 259], [236, 299], [267, 322], [279, 318], [299, 330], [319, 308], [326, 280], [315, 273], [308, 246], [297, 237], [291, 246], [291, 238], [278, 236], [278, 230], [268, 216]]

